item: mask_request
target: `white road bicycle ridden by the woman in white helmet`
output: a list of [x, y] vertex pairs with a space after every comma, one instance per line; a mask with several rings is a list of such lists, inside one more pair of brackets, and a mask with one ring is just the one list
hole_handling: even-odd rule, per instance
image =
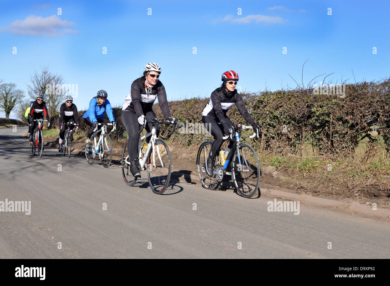
[[[158, 121], [157, 119], [153, 119], [149, 121], [149, 123], [152, 124], [151, 132], [140, 137], [138, 141], [137, 167], [140, 171], [143, 171], [145, 170], [145, 163], [147, 164], [147, 178], [152, 191], [155, 194], [163, 194], [163, 192], [167, 189], [170, 180], [172, 161], [167, 142], [163, 139], [157, 138], [156, 125], [168, 125], [172, 123], [167, 121]], [[138, 133], [141, 133], [142, 130], [144, 130], [145, 124], [146, 121]], [[175, 128], [176, 124], [173, 124], [168, 137], [172, 135]], [[141, 142], [149, 137], [149, 144], [147, 144], [145, 151], [142, 152]], [[133, 176], [130, 172], [130, 162], [127, 148], [128, 140], [126, 140], [122, 151], [122, 176], [126, 185], [133, 186], [139, 177]]]

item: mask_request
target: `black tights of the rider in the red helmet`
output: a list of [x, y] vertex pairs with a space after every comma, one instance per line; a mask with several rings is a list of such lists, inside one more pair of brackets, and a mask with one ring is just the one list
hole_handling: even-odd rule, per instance
[[[226, 121], [232, 125], [234, 125], [229, 118], [225, 117]], [[225, 132], [223, 131], [223, 126], [220, 124], [219, 120], [212, 116], [202, 116], [202, 122], [205, 124], [205, 128], [211, 135], [214, 136], [214, 142], [213, 145], [211, 145], [211, 150], [209, 154], [209, 158], [211, 160], [214, 160], [215, 155], [217, 155], [218, 151], [220, 150], [223, 139], [222, 137], [225, 135]], [[233, 147], [234, 141], [236, 140], [235, 137], [233, 137], [233, 140], [230, 140], [229, 142], [229, 148], [231, 149]]]

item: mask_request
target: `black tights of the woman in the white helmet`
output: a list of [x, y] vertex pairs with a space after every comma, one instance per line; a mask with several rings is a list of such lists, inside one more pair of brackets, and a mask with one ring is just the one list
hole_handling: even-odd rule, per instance
[[[145, 114], [146, 120], [150, 121], [151, 119], [157, 119], [156, 114], [152, 111], [148, 111]], [[135, 160], [137, 158], [138, 152], [138, 140], [140, 135], [138, 131], [140, 130], [140, 124], [138, 123], [138, 115], [131, 111], [122, 110], [122, 122], [126, 128], [127, 134], [129, 135], [129, 141], [127, 143], [127, 151], [129, 154], [129, 160]], [[152, 124], [148, 123], [145, 126], [146, 131], [149, 133], [152, 130]], [[160, 126], [156, 125], [156, 135], [160, 134]], [[146, 142], [149, 143], [150, 137], [146, 139]]]

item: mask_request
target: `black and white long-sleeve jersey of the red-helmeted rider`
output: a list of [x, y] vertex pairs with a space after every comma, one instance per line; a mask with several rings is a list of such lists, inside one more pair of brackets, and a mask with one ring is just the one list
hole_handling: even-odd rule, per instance
[[210, 101], [203, 109], [202, 115], [216, 117], [222, 125], [225, 125], [226, 112], [232, 108], [234, 104], [236, 104], [240, 114], [249, 124], [255, 123], [248, 110], [246, 110], [243, 99], [236, 90], [227, 92], [225, 89], [217, 88], [211, 93]]

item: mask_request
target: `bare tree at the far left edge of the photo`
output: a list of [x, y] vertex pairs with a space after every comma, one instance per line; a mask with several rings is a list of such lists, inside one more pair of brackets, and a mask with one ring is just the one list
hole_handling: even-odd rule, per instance
[[16, 83], [2, 83], [0, 85], [0, 111], [9, 118], [12, 109], [21, 101], [24, 91], [16, 88]]

